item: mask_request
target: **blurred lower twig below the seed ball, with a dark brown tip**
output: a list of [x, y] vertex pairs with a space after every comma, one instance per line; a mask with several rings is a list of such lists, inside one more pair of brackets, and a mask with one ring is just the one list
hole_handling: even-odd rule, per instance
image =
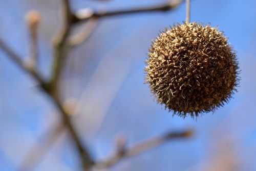
[[[117, 149], [119, 150], [114, 156], [109, 157], [109, 159], [106, 159], [103, 162], [97, 163], [95, 167], [97, 168], [110, 167], [124, 158], [139, 155], [169, 140], [178, 139], [178, 138], [188, 138], [188, 137], [191, 137], [192, 135], [193, 135], [193, 130], [186, 130], [182, 132], [169, 132], [167, 134], [163, 134], [158, 137], [144, 140], [134, 146], [131, 146], [130, 148], [126, 148], [125, 146], [123, 147], [118, 146]], [[125, 143], [121, 143], [121, 144], [125, 145]]]

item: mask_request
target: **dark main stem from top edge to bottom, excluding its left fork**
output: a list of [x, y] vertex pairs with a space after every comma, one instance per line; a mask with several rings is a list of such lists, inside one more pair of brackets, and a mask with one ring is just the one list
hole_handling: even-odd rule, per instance
[[73, 140], [75, 141], [77, 150], [79, 152], [82, 166], [84, 170], [87, 170], [93, 164], [93, 160], [89, 152], [83, 147], [76, 131], [71, 123], [71, 118], [68, 113], [63, 109], [61, 102], [59, 101], [59, 80], [61, 78], [61, 72], [65, 68], [65, 62], [69, 52], [69, 45], [67, 43], [68, 37], [71, 33], [72, 26], [74, 25], [74, 15], [71, 11], [69, 0], [62, 0], [63, 7], [63, 26], [59, 34], [55, 37], [54, 41], [54, 61], [52, 68], [52, 77], [48, 83], [51, 87], [49, 94], [51, 95], [53, 102], [59, 108], [63, 121], [67, 125], [69, 132]]

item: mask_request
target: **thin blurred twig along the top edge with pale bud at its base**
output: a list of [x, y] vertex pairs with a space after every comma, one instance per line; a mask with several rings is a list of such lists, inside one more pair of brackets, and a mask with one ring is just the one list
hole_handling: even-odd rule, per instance
[[119, 15], [124, 15], [124, 14], [135, 14], [135, 13], [145, 13], [145, 12], [165, 12], [169, 10], [173, 10], [176, 7], [178, 7], [183, 0], [175, 0], [172, 2], [167, 2], [162, 5], [156, 5], [156, 6], [151, 6], [151, 7], [141, 7], [141, 8], [133, 8], [133, 9], [127, 9], [127, 10], [117, 10], [117, 11], [93, 11], [90, 9], [84, 9], [84, 10], [79, 10], [76, 13], [76, 19], [75, 22], [80, 22], [83, 20], [88, 20], [89, 18], [92, 17], [107, 17], [107, 16], [119, 16]]

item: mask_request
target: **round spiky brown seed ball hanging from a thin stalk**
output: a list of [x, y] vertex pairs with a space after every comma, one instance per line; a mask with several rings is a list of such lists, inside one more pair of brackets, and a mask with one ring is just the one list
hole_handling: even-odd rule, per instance
[[158, 103], [183, 117], [214, 111], [238, 85], [236, 53], [227, 38], [197, 22], [161, 32], [146, 65], [146, 83]]

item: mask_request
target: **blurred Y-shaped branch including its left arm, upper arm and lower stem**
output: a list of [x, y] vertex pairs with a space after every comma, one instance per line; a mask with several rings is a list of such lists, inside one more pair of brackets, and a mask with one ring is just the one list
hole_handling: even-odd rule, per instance
[[63, 109], [62, 104], [59, 100], [59, 97], [56, 93], [56, 84], [59, 78], [59, 72], [62, 66], [61, 61], [65, 60], [66, 57], [66, 40], [68, 38], [68, 35], [71, 31], [71, 25], [72, 25], [72, 14], [70, 10], [70, 4], [68, 0], [63, 0], [63, 15], [65, 17], [65, 25], [63, 26], [62, 30], [60, 31], [59, 35], [55, 39], [55, 64], [54, 64], [54, 69], [53, 69], [53, 80], [51, 80], [50, 83], [54, 84], [49, 84], [46, 83], [41, 79], [41, 77], [37, 74], [37, 71], [30, 66], [24, 65], [23, 61], [21, 58], [16, 55], [11, 48], [9, 48], [2, 40], [0, 40], [0, 46], [3, 48], [3, 50], [8, 54], [8, 56], [15, 61], [20, 67], [22, 67], [25, 71], [28, 71], [35, 80], [37, 80], [40, 83], [40, 86], [42, 90], [44, 90], [53, 103], [57, 106], [57, 108], [60, 111], [60, 114], [62, 115], [63, 123], [67, 126], [69, 129], [69, 132], [72, 136], [72, 139], [74, 140], [77, 150], [79, 152], [81, 162], [83, 165], [83, 169], [86, 170], [90, 165], [92, 165], [93, 161], [89, 155], [89, 152], [83, 148], [83, 145], [78, 138], [78, 135], [75, 131], [75, 128], [73, 124], [71, 123], [71, 119], [68, 113]]

